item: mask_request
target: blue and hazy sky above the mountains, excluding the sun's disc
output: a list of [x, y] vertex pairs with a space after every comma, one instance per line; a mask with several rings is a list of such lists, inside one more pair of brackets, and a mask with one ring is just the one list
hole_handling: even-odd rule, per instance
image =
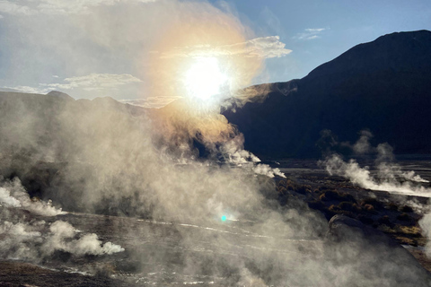
[[223, 58], [236, 89], [407, 30], [431, 30], [431, 1], [0, 0], [0, 89], [157, 108], [181, 97], [186, 59]]

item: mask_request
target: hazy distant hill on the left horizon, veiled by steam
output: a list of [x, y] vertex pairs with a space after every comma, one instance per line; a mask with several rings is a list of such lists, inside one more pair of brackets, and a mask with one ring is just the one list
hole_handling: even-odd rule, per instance
[[[5, 147], [20, 149], [25, 146], [39, 150], [55, 148], [64, 153], [65, 144], [59, 142], [69, 135], [59, 131], [64, 132], [66, 127], [67, 131], [77, 128], [83, 131], [86, 126], [92, 133], [92, 129], [100, 126], [98, 121], [109, 120], [112, 112], [128, 116], [143, 114], [144, 110], [110, 97], [75, 100], [60, 91], [50, 91], [46, 95], [0, 91], [0, 152], [4, 152]], [[101, 117], [94, 118], [96, 114]]]

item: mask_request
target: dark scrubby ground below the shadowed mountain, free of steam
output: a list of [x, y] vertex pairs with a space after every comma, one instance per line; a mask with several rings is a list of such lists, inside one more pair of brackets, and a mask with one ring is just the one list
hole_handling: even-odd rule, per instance
[[[360, 163], [362, 166], [373, 166], [371, 161]], [[418, 156], [400, 161], [402, 167], [414, 169], [427, 180], [431, 180], [430, 163], [429, 158]], [[336, 214], [344, 214], [381, 230], [407, 248], [431, 272], [431, 259], [424, 253], [428, 239], [418, 224], [429, 212], [428, 196], [409, 196], [359, 187], [347, 178], [330, 176], [315, 160], [273, 161], [271, 165], [287, 175], [287, 179], [277, 181], [282, 204], [289, 198], [297, 197], [307, 202], [310, 208], [323, 213], [328, 221]], [[374, 172], [373, 169], [370, 171]], [[423, 186], [430, 187], [430, 184]]]

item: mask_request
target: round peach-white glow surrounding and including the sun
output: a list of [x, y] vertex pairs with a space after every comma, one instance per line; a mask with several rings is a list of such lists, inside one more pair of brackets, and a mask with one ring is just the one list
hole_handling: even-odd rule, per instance
[[196, 103], [220, 104], [217, 94], [236, 97], [261, 72], [262, 57], [248, 53], [251, 30], [233, 14], [202, 5], [207, 13], [185, 11], [143, 56], [143, 76], [149, 77], [143, 98], [189, 98], [189, 109], [200, 109]]

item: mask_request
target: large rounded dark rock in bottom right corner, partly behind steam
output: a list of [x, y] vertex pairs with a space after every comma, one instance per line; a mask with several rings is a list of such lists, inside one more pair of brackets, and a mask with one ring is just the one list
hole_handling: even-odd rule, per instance
[[362, 283], [354, 286], [431, 286], [431, 274], [407, 249], [382, 231], [345, 215], [330, 219], [327, 247], [334, 265], [355, 268], [363, 275]]

